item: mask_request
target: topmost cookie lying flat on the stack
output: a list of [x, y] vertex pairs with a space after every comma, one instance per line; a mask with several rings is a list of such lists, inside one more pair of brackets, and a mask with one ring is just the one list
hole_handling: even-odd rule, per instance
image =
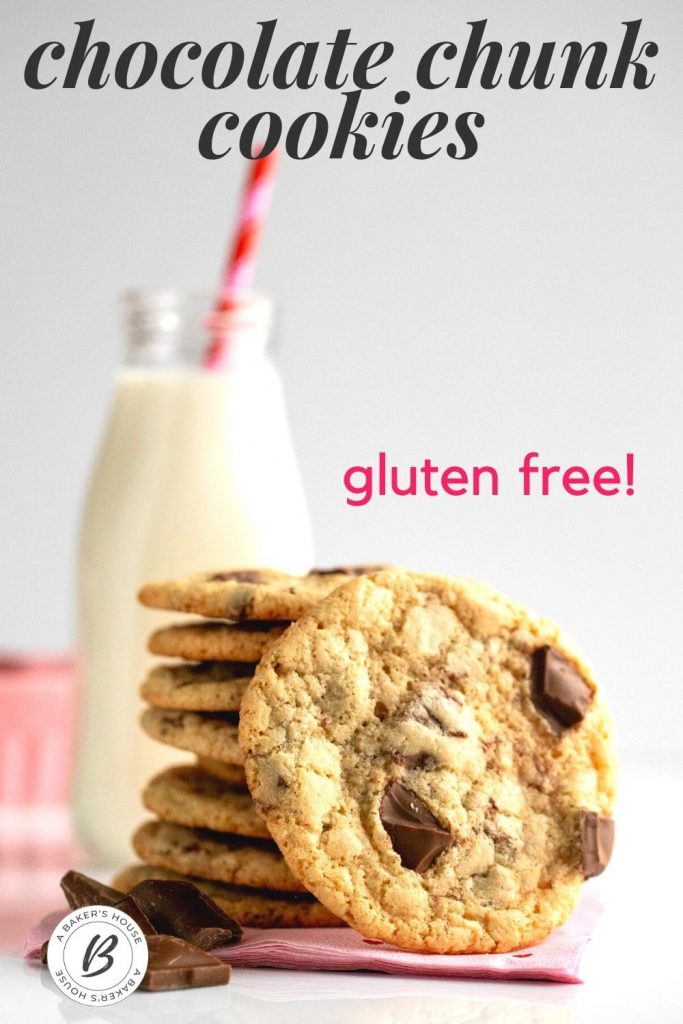
[[186, 580], [148, 583], [139, 600], [151, 608], [188, 611], [211, 618], [294, 620], [313, 607], [352, 577], [372, 572], [378, 565], [349, 565], [312, 569], [307, 575], [288, 575], [273, 569], [229, 569], [198, 572]]

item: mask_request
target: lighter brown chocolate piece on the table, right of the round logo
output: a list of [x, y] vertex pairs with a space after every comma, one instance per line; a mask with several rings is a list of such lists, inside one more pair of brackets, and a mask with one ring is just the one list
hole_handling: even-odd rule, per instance
[[226, 985], [230, 980], [229, 964], [197, 949], [189, 942], [172, 935], [152, 935], [147, 939], [150, 958], [140, 988], [162, 992], [171, 988], [202, 988]]

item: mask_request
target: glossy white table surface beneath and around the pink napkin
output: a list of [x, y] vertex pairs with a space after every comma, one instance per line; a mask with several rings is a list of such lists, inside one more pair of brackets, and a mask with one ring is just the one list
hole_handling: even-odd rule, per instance
[[[605, 912], [585, 954], [582, 985], [395, 978], [236, 969], [227, 987], [137, 992], [90, 1010], [61, 995], [47, 971], [0, 957], [0, 1020], [8, 1024], [679, 1024], [683, 1021], [683, 757], [624, 765], [617, 845], [598, 885]], [[3, 895], [3, 902], [8, 894]], [[53, 905], [58, 905], [55, 892]], [[5, 943], [5, 948], [7, 944]]]

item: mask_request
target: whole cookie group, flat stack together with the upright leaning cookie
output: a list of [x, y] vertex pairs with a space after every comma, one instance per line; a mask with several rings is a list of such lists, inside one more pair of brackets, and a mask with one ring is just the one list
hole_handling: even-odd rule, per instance
[[219, 573], [142, 599], [226, 622], [153, 637], [195, 664], [152, 674], [144, 727], [200, 760], [147, 786], [159, 817], [120, 888], [191, 876], [243, 923], [504, 952], [606, 866], [609, 718], [550, 620], [396, 570]]

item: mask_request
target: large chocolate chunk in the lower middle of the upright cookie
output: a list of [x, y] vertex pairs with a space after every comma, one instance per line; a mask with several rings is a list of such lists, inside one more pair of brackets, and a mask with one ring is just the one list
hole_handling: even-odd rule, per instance
[[380, 818], [401, 864], [414, 871], [426, 871], [453, 844], [451, 833], [441, 828], [420, 798], [399, 782], [387, 786]]

